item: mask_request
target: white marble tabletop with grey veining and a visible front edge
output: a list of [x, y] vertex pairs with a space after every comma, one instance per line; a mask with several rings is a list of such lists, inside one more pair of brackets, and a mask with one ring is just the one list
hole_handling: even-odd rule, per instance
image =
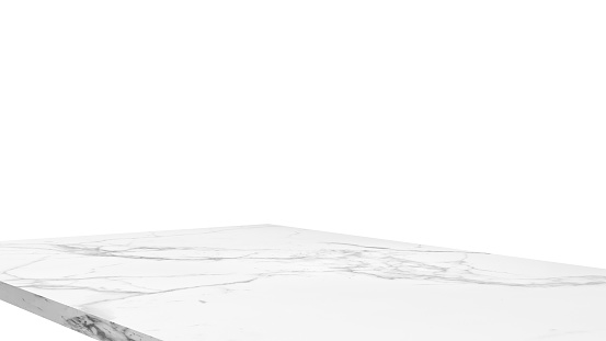
[[606, 340], [606, 270], [274, 225], [0, 242], [0, 298], [102, 341]]

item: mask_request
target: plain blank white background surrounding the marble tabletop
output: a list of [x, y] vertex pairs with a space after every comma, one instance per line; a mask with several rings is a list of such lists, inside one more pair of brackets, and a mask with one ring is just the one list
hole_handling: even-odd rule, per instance
[[[606, 268], [604, 18], [3, 1], [0, 237], [272, 223]], [[84, 338], [0, 318], [8, 339]]]

